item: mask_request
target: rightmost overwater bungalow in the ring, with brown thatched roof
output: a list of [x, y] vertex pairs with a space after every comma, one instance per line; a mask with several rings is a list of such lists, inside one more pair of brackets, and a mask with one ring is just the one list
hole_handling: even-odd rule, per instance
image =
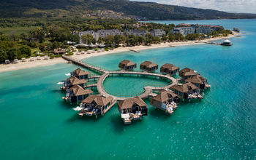
[[197, 74], [196, 76], [193, 76], [189, 79], [186, 79], [185, 81], [195, 84], [195, 86], [200, 89], [206, 89], [206, 88], [208, 89], [211, 87], [211, 85], [209, 85], [207, 83], [207, 79], [203, 78], [203, 76], [200, 76], [199, 74]]

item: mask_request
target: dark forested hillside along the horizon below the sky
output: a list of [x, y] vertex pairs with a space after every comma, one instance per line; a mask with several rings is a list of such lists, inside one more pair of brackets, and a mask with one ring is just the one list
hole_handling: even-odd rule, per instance
[[256, 18], [256, 14], [235, 14], [127, 0], [1, 0], [0, 17], [85, 17], [89, 12], [106, 9], [124, 15], [146, 17], [148, 20]]

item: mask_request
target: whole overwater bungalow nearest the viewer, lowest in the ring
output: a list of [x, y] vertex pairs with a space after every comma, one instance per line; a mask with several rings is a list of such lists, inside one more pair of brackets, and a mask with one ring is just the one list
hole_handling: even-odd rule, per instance
[[119, 101], [118, 111], [121, 113], [124, 124], [131, 124], [132, 120], [138, 120], [148, 115], [147, 105], [140, 97]]

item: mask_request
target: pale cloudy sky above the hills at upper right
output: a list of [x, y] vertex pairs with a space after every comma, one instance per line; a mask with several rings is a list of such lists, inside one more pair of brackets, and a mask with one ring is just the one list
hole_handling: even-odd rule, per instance
[[132, 0], [153, 1], [202, 9], [217, 9], [225, 12], [256, 13], [256, 0]]

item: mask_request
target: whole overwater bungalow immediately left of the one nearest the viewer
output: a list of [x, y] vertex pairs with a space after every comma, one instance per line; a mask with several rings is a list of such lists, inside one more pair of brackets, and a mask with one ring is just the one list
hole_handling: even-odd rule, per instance
[[105, 97], [103, 95], [89, 95], [82, 101], [80, 108], [83, 108], [78, 115], [92, 116], [104, 115], [116, 101], [113, 97]]

